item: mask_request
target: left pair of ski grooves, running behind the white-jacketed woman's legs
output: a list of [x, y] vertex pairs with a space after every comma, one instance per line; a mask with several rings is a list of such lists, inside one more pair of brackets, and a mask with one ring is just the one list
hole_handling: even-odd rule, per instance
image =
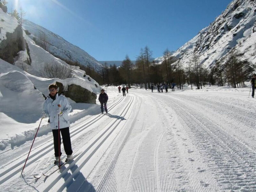
[[[111, 104], [111, 106], [109, 107], [109, 111], [114, 108], [116, 105], [118, 105], [119, 103], [121, 103], [121, 101], [124, 99], [121, 98], [119, 99], [116, 103], [114, 104]], [[81, 133], [79, 132], [80, 129], [84, 128], [84, 125], [87, 125], [87, 124], [90, 124], [90, 125], [87, 125], [87, 127], [91, 126], [95, 121], [97, 121], [98, 119], [102, 118], [104, 116], [102, 116], [101, 114], [100, 115], [97, 115], [96, 117], [92, 117], [90, 119], [88, 119], [87, 121], [85, 121], [84, 123], [82, 124], [79, 124], [78, 125], [78, 128], [76, 128], [77, 126], [75, 126], [74, 128], [72, 128], [71, 132], [70, 132], [70, 138], [72, 139], [72, 137], [74, 135], [76, 135], [77, 133]], [[85, 129], [85, 128], [84, 128]], [[51, 139], [52, 141], [52, 139]], [[45, 154], [49, 153], [50, 151], [52, 151], [53, 149], [53, 143], [51, 142], [51, 144], [48, 144], [49, 141], [46, 141], [44, 144], [38, 146], [37, 148], [42, 148], [40, 149], [39, 151], [37, 151], [36, 153], [34, 154], [31, 154], [29, 156], [29, 159], [28, 159], [28, 162], [26, 164], [26, 168], [28, 170], [28, 167], [30, 164], [33, 164], [34, 162], [36, 162], [38, 159], [42, 158]], [[44, 147], [44, 145], [47, 145]], [[35, 150], [36, 148], [33, 149], [33, 151]], [[26, 160], [26, 153], [23, 155], [24, 159], [23, 160], [19, 160], [18, 163], [15, 163], [14, 165], [11, 165], [10, 168], [8, 168], [7, 170], [5, 170], [4, 172], [1, 172], [0, 173], [0, 178], [2, 179], [2, 177], [4, 176], [4, 178], [2, 180], [0, 180], [0, 185], [2, 185], [4, 182], [6, 182], [7, 180], [11, 179], [12, 177], [14, 177], [15, 175], [17, 175], [18, 173], [20, 173], [20, 171], [22, 170], [22, 164], [25, 163], [25, 160]], [[4, 166], [4, 165], [3, 165]], [[26, 170], [25, 170], [26, 171]]]

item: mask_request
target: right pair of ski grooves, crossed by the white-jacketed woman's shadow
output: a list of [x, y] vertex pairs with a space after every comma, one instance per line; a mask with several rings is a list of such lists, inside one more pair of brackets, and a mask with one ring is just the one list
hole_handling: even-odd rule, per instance
[[[126, 97], [128, 99], [128, 97]], [[131, 107], [133, 103], [134, 97], [131, 97], [131, 99], [127, 102], [125, 108], [122, 112], [120, 112], [119, 116], [125, 116], [128, 112], [129, 108]], [[46, 180], [45, 183], [42, 183], [42, 185], [38, 186], [39, 191], [62, 191], [65, 188], [67, 188], [68, 191], [77, 191], [80, 188], [80, 183], [74, 181], [78, 177], [83, 177], [85, 179], [84, 174], [81, 172], [84, 172], [85, 170], [88, 171], [88, 168], [91, 167], [93, 169], [97, 162], [100, 160], [101, 156], [103, 155], [101, 150], [97, 154], [97, 150], [99, 150], [100, 147], [103, 147], [104, 150], [107, 150], [108, 146], [112, 143], [112, 141], [115, 139], [117, 134], [112, 134], [118, 125], [123, 122], [122, 119], [114, 119], [112, 120], [108, 126], [105, 128], [105, 130], [102, 130], [99, 132], [99, 134], [96, 135], [96, 137], [92, 138], [92, 141], [90, 141], [87, 145], [85, 145], [81, 150], [83, 153], [79, 155], [76, 159], [74, 159], [73, 162], [70, 163], [67, 169], [65, 169], [61, 174], [54, 173], [52, 175], [52, 178], [56, 178], [54, 180]], [[120, 131], [120, 130], [119, 130]], [[119, 132], [117, 130], [117, 132]], [[114, 135], [112, 138], [109, 139], [108, 137], [111, 137], [111, 135]], [[102, 145], [104, 143], [104, 145]], [[89, 145], [89, 146], [88, 146]], [[103, 151], [104, 151], [103, 150]], [[90, 158], [94, 158], [94, 166], [91, 164], [93, 162], [90, 162], [89, 165], [86, 165], [86, 163], [90, 160]], [[96, 160], [96, 161], [95, 161]], [[70, 172], [69, 170], [72, 169], [72, 167], [75, 166], [76, 169], [71, 170], [72, 174], [68, 174], [67, 172]], [[81, 171], [81, 172], [80, 172]], [[90, 172], [88, 173], [90, 174]], [[61, 179], [61, 178], [64, 178]], [[73, 180], [74, 179], [74, 180]]]

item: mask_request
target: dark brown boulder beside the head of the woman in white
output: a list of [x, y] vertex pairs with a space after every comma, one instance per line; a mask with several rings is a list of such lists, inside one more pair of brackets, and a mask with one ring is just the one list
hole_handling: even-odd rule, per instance
[[56, 82], [59, 87], [59, 93], [62, 93], [66, 97], [69, 97], [76, 103], [93, 103], [96, 104], [97, 95], [87, 89], [81, 87], [80, 85], [71, 84], [68, 85], [67, 91], [64, 91], [64, 86], [60, 82]]

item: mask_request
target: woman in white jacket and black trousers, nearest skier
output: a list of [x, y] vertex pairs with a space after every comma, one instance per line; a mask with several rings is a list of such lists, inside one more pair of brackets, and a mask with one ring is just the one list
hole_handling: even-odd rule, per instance
[[[59, 129], [62, 135], [62, 141], [65, 153], [67, 154], [66, 160], [72, 159], [72, 148], [69, 134], [69, 126], [70, 122], [68, 119], [68, 113], [71, 111], [71, 106], [64, 95], [60, 95], [57, 92], [57, 85], [50, 84], [49, 87], [50, 94], [47, 96], [47, 99], [44, 101], [43, 112], [41, 114], [42, 118], [49, 117], [49, 123], [52, 128], [53, 134], [53, 145], [54, 145], [54, 155], [55, 161], [54, 164], [59, 163], [59, 153], [61, 156], [61, 152], [59, 152], [58, 141], [61, 140], [58, 138]], [[58, 117], [59, 116], [59, 117]], [[60, 127], [59, 127], [60, 125]]]

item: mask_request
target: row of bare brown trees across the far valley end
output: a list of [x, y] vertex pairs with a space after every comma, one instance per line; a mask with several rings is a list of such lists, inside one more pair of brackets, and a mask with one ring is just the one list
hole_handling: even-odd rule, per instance
[[146, 46], [140, 49], [135, 63], [126, 55], [120, 67], [108, 66], [105, 63], [100, 69], [95, 69], [90, 65], [83, 69], [99, 84], [115, 86], [127, 84], [129, 87], [136, 84], [140, 88], [147, 89], [152, 83], [165, 83], [169, 87], [175, 83], [179, 89], [183, 89], [184, 85], [191, 89], [193, 85], [197, 89], [202, 89], [205, 85], [244, 87], [244, 82], [250, 79], [256, 67], [248, 60], [240, 60], [241, 54], [232, 50], [228, 57], [215, 60], [210, 68], [201, 64], [200, 55], [196, 50], [186, 65], [181, 62], [180, 58], [172, 57], [168, 49], [164, 51], [161, 63], [152, 60], [151, 56], [152, 51]]

